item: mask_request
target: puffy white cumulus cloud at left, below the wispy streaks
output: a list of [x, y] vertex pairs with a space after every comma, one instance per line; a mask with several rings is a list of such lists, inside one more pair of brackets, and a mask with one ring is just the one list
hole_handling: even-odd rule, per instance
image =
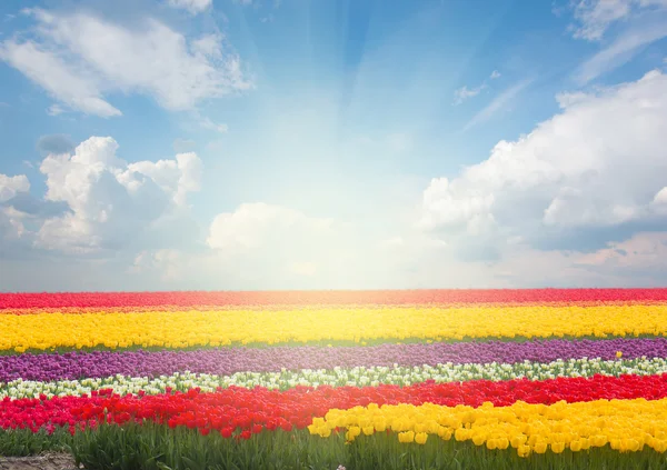
[[73, 154], [42, 161], [46, 200], [66, 202], [70, 212], [44, 221], [38, 246], [83, 254], [117, 250], [199, 189], [201, 162], [195, 153], [128, 164], [117, 150], [112, 138], [91, 137]]

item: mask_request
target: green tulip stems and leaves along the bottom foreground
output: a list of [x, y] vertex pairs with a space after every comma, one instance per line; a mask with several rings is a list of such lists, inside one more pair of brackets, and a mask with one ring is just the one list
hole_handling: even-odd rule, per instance
[[424, 446], [399, 443], [396, 434], [358, 437], [346, 443], [341, 434], [322, 439], [307, 431], [262, 431], [249, 440], [201, 436], [187, 428], [155, 423], [97, 430], [71, 437], [64, 430], [37, 434], [29, 430], [0, 432], [0, 454], [28, 456], [67, 450], [89, 470], [659, 470], [667, 454], [651, 449], [620, 453], [610, 448], [521, 459], [514, 449], [487, 450], [471, 442], [442, 441], [434, 436]]

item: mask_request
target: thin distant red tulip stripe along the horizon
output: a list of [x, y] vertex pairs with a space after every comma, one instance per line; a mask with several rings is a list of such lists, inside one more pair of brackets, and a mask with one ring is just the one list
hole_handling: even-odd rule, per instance
[[0, 309], [126, 308], [271, 304], [424, 304], [664, 302], [663, 289], [488, 289], [271, 292], [0, 293]]

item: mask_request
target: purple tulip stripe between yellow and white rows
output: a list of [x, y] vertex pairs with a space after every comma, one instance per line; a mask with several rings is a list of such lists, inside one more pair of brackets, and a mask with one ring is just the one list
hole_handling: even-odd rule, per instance
[[368, 347], [217, 348], [193, 351], [93, 351], [0, 356], [0, 382], [74, 380], [116, 374], [170, 376], [190, 371], [217, 376], [300, 369], [436, 366], [438, 363], [551, 362], [580, 358], [667, 358], [666, 338], [534, 340]]

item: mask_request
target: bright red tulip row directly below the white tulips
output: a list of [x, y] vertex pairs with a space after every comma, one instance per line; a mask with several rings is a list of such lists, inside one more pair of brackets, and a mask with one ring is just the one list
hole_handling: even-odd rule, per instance
[[[211, 429], [231, 436], [233, 430], [259, 432], [261, 429], [305, 429], [313, 417], [323, 417], [329, 409], [356, 406], [426, 402], [455, 407], [479, 407], [484, 402], [509, 406], [518, 400], [550, 404], [599, 399], [655, 400], [667, 397], [667, 374], [595, 376], [589, 379], [552, 379], [546, 381], [509, 380], [504, 382], [471, 381], [462, 383], [424, 382], [410, 387], [297, 387], [287, 391], [263, 388], [232, 387], [212, 393], [198, 389], [158, 396], [118, 396], [110, 391], [90, 397], [47, 399], [4, 399], [0, 404], [0, 428], [31, 429], [94, 426], [98, 422], [150, 420], [169, 427]], [[245, 434], [247, 436], [247, 433]]]

